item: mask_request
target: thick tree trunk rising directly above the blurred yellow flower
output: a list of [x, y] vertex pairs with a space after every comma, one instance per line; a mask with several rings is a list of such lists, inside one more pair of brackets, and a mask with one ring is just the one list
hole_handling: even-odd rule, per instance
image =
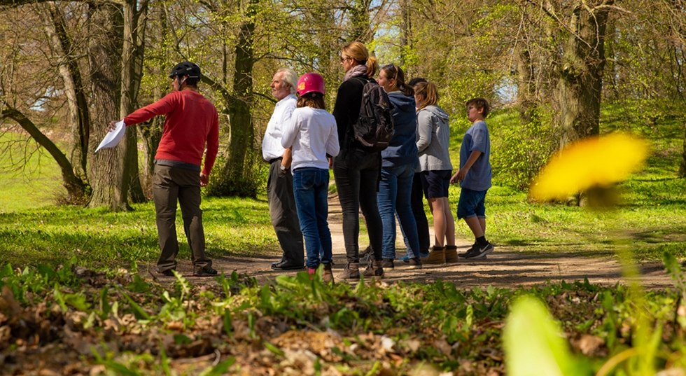
[[[600, 132], [601, 92], [605, 68], [605, 26], [614, 0], [595, 1], [604, 6], [576, 4], [563, 46], [556, 99], [560, 106], [561, 146]], [[584, 3], [590, 3], [584, 2]], [[601, 4], [598, 4], [601, 5]]]

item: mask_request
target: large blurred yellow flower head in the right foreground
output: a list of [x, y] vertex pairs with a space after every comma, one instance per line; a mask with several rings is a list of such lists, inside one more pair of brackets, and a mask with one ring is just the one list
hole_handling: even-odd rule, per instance
[[640, 168], [647, 154], [647, 143], [629, 134], [581, 139], [553, 156], [533, 181], [529, 196], [565, 200], [589, 188], [610, 186]]

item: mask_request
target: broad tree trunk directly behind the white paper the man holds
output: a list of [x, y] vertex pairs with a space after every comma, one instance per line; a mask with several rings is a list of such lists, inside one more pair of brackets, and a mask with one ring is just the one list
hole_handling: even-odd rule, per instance
[[[88, 62], [90, 66], [91, 135], [96, 143], [106, 134], [106, 126], [120, 113], [120, 64], [123, 18], [113, 4], [90, 5]], [[132, 133], [127, 130], [126, 133]], [[123, 183], [125, 148], [104, 149], [89, 164], [93, 193], [89, 207], [106, 206], [113, 211], [129, 210], [127, 184]]]

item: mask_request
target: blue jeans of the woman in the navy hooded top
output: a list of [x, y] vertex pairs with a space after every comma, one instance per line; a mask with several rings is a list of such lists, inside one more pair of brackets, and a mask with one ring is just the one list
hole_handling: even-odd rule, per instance
[[412, 212], [412, 179], [414, 167], [381, 167], [379, 183], [379, 214], [384, 226], [384, 240], [381, 248], [383, 258], [395, 258], [395, 214], [398, 214], [400, 228], [407, 237], [408, 256], [419, 257], [419, 235]]

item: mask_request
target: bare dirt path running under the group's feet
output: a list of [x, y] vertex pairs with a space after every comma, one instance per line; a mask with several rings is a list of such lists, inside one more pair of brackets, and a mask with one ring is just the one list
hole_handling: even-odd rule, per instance
[[[337, 197], [329, 200], [329, 228], [331, 230], [334, 276], [340, 281], [339, 274], [345, 265], [345, 249], [342, 233], [342, 214]], [[459, 223], [458, 225], [461, 225]], [[433, 234], [432, 234], [433, 239]], [[360, 236], [360, 249], [368, 244], [365, 235]], [[471, 246], [467, 239], [458, 239], [458, 253]], [[405, 254], [405, 246], [398, 231], [396, 254]], [[280, 274], [295, 274], [295, 272], [276, 272], [271, 270], [271, 263], [279, 260], [279, 256], [272, 258], [237, 258], [221, 257], [214, 259], [214, 267], [225, 273], [233, 270], [249, 274], [260, 282], [274, 279]], [[398, 265], [400, 264], [400, 265]], [[622, 277], [622, 267], [615, 258], [588, 258], [569, 253], [522, 253], [497, 246], [493, 253], [484, 260], [464, 260], [448, 265], [424, 265], [422, 269], [410, 269], [401, 266], [396, 261], [394, 270], [386, 270], [384, 281], [415, 281], [430, 283], [437, 279], [451, 281], [464, 288], [475, 286], [489, 286], [516, 288], [542, 284], [546, 281], [582, 281], [588, 278], [593, 284], [612, 285], [618, 281], [626, 283]], [[191, 280], [208, 280], [190, 277], [192, 269], [190, 261], [179, 260], [179, 271]], [[160, 279], [171, 279], [162, 277]], [[640, 281], [645, 288], [664, 288], [673, 286], [671, 278], [664, 271], [661, 263], [643, 263], [640, 265]]]

